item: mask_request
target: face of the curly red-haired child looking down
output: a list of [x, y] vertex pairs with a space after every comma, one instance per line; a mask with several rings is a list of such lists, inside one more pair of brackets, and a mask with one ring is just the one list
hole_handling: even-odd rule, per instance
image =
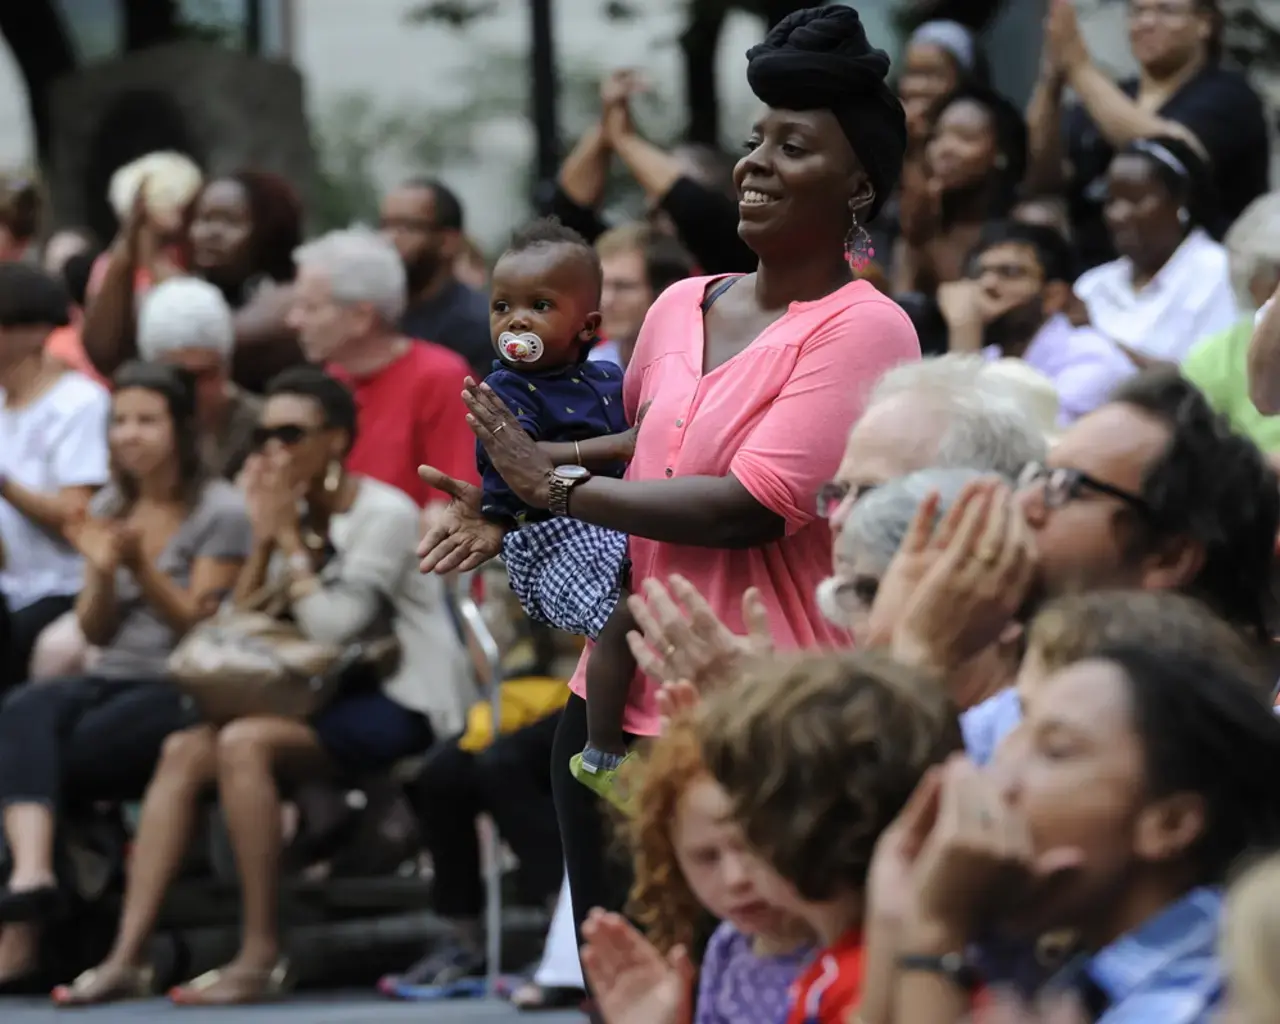
[[710, 776], [686, 788], [671, 826], [676, 860], [690, 891], [719, 920], [748, 936], [780, 934], [788, 916], [764, 899], [768, 869], [746, 845], [728, 795]]

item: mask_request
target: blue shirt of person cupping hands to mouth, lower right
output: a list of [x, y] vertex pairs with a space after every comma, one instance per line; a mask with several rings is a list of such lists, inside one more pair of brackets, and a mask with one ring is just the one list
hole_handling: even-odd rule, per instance
[[1106, 1000], [1098, 1024], [1207, 1024], [1225, 989], [1217, 954], [1221, 916], [1221, 890], [1194, 888], [1068, 966], [1051, 987], [1078, 987], [1079, 973], [1085, 974]]

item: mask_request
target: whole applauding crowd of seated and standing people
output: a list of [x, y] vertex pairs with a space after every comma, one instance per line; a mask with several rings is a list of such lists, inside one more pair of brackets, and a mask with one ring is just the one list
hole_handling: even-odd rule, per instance
[[[438, 179], [305, 239], [276, 175], [147, 154], [101, 251], [12, 187], [0, 995], [154, 993], [216, 800], [239, 950], [169, 995], [280, 996], [282, 879], [385, 810], [360, 785], [447, 925], [388, 996], [476, 991], [488, 815], [553, 914], [522, 1009], [1274, 1019], [1280, 195], [1216, 0], [1128, 18], [1112, 82], [1055, 0], [1020, 111], [963, 26], [891, 67], [797, 12], [736, 164], [644, 138], [620, 70], [492, 264]], [[641, 220], [602, 219], [613, 165]], [[202, 689], [298, 649], [292, 710]], [[118, 933], [51, 977], [104, 806]]]

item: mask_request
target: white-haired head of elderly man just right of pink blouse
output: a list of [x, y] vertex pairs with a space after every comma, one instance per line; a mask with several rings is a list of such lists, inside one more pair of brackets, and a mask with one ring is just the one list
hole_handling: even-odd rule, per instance
[[1029, 396], [980, 356], [941, 356], [890, 370], [849, 433], [818, 511], [838, 534], [861, 494], [916, 470], [982, 470], [1016, 480], [1047, 451]]

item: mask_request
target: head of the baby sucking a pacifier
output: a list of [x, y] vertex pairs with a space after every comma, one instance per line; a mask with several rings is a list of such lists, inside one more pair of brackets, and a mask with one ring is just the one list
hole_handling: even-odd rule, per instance
[[576, 361], [600, 326], [599, 280], [586, 253], [552, 243], [507, 252], [493, 269], [489, 333], [507, 366], [554, 370]]

